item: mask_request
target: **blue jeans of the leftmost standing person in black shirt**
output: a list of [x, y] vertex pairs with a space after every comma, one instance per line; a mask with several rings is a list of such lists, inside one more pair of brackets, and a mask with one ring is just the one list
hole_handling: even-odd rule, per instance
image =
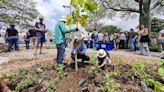
[[12, 48], [12, 44], [15, 44], [15, 50], [19, 50], [19, 47], [18, 47], [18, 37], [17, 36], [10, 36], [8, 37], [8, 50], [11, 50]]

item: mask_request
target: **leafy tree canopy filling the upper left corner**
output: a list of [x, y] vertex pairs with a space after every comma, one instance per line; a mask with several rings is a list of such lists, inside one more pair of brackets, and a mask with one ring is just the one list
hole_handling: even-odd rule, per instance
[[34, 0], [0, 0], [0, 23], [28, 28], [39, 14]]

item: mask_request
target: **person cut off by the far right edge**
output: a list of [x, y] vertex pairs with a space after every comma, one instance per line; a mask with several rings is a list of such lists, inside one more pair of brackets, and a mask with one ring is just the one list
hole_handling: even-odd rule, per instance
[[159, 51], [163, 51], [164, 50], [164, 30], [161, 30], [159, 32], [159, 36], [158, 36], [158, 46], [159, 46]]

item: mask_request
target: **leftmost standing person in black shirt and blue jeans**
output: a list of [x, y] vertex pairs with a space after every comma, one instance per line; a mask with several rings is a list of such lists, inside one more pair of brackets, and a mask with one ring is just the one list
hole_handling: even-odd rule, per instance
[[5, 39], [8, 41], [8, 50], [11, 51], [13, 44], [15, 44], [15, 50], [18, 51], [18, 31], [15, 29], [15, 25], [11, 24], [10, 28], [7, 28], [6, 34], [5, 34]]

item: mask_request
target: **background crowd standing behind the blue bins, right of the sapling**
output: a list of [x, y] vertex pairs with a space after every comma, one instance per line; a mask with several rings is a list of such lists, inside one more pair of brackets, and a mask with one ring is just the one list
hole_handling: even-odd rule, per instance
[[115, 50], [128, 49], [130, 51], [136, 51], [139, 49], [142, 55], [149, 56], [148, 43], [150, 42], [150, 38], [148, 34], [149, 31], [143, 24], [140, 25], [138, 32], [130, 29], [126, 32], [103, 34], [101, 32], [98, 33], [95, 29], [93, 33], [90, 32], [84, 35], [84, 43], [87, 45], [87, 48], [96, 48], [97, 42], [112, 42], [114, 43]]

